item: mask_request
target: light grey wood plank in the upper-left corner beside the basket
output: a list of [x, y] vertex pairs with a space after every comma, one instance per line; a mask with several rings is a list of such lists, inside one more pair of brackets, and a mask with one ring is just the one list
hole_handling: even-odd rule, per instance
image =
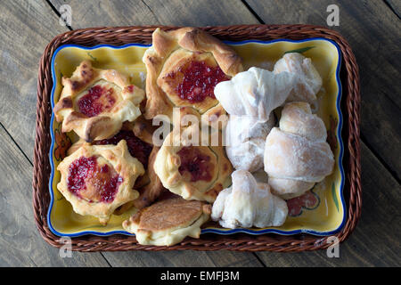
[[31, 158], [38, 62], [45, 45], [68, 29], [43, 1], [1, 1], [0, 11], [0, 122]]

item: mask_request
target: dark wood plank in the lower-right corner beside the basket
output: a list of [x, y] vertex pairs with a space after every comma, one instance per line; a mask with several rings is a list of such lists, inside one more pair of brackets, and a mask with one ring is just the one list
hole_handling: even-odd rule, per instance
[[267, 266], [400, 266], [400, 185], [362, 143], [362, 216], [340, 244], [340, 258], [326, 250], [294, 254], [258, 253]]

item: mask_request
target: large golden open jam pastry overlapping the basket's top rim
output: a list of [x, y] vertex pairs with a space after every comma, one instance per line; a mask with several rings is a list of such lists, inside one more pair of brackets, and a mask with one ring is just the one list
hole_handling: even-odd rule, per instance
[[242, 70], [241, 58], [231, 47], [198, 28], [157, 28], [143, 62], [147, 119], [164, 114], [171, 120], [173, 107], [192, 107], [205, 122], [218, 119], [225, 110], [214, 88]]

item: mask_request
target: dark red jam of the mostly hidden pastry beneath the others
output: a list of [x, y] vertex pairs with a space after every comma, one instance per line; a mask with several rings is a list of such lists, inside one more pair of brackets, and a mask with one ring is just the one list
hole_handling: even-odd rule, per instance
[[151, 145], [141, 141], [135, 136], [133, 131], [120, 131], [119, 134], [114, 135], [110, 139], [94, 142], [94, 144], [118, 144], [119, 141], [126, 140], [129, 153], [138, 159], [143, 167], [148, 167], [148, 159], [151, 154]]

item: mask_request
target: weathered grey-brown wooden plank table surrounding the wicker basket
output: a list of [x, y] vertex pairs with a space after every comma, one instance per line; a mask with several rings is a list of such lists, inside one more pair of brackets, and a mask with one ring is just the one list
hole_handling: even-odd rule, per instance
[[[59, 23], [69, 4], [70, 26]], [[208, 26], [307, 23], [327, 26], [329, 4], [340, 8], [340, 31], [356, 53], [362, 88], [363, 213], [340, 244], [325, 250], [271, 252], [74, 252], [39, 236], [32, 214], [38, 61], [57, 34], [74, 28], [128, 25]], [[1, 266], [389, 266], [401, 265], [400, 107], [401, 3], [365, 1], [79, 1], [0, 3], [0, 265]]]

